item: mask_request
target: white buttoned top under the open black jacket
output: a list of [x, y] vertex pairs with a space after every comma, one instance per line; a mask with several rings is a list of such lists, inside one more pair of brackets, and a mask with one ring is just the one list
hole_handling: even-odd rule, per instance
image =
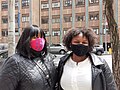
[[64, 66], [60, 83], [64, 90], [92, 90], [90, 60], [87, 58], [77, 64], [70, 58]]

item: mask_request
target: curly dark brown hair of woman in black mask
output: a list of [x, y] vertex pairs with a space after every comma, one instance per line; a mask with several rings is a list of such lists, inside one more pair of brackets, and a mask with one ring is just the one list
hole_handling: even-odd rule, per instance
[[90, 51], [92, 51], [94, 44], [96, 43], [97, 36], [94, 33], [92, 29], [86, 29], [86, 28], [74, 28], [69, 29], [68, 32], [63, 37], [63, 45], [68, 49], [71, 50], [71, 41], [72, 39], [79, 35], [80, 33], [83, 33], [83, 36], [85, 36], [88, 39], [88, 45]]

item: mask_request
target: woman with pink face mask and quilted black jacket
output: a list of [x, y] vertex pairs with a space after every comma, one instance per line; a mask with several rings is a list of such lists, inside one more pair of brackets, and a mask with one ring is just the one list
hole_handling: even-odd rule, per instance
[[24, 29], [16, 53], [0, 69], [0, 90], [54, 90], [55, 56], [47, 52], [44, 32], [36, 25]]

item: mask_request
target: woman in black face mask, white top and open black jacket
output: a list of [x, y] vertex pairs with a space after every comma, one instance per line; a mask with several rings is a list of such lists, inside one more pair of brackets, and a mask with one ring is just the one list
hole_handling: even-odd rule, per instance
[[58, 65], [58, 90], [117, 90], [105, 60], [91, 53], [96, 35], [91, 29], [70, 29], [63, 44], [70, 54]]

